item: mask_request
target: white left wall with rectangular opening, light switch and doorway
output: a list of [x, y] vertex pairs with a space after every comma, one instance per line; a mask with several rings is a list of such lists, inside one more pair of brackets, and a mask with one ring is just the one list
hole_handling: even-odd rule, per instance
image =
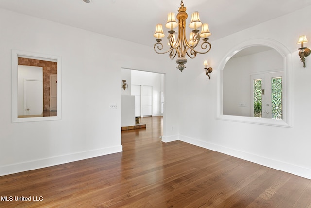
[[[166, 73], [170, 113], [163, 137], [176, 138], [177, 130], [171, 128], [177, 123], [175, 64], [155, 54], [152, 45], [3, 9], [0, 25], [0, 39], [5, 40], [0, 41], [0, 175], [122, 151], [122, 67]], [[62, 57], [61, 120], [11, 122], [12, 49]], [[111, 103], [117, 109], [109, 109]]]

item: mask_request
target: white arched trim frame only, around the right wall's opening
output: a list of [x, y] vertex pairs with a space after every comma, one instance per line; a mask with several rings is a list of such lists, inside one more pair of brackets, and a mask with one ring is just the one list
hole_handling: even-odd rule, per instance
[[[228, 61], [238, 52], [253, 46], [266, 46], [273, 50], [282, 57], [283, 61], [283, 118], [282, 119], [269, 119], [258, 118], [251, 116], [237, 116], [224, 114], [224, 69]], [[253, 38], [246, 40], [228, 51], [220, 62], [218, 76], [218, 92], [217, 92], [217, 119], [228, 120], [235, 122], [246, 122], [271, 126], [292, 127], [292, 57], [291, 52], [281, 43], [268, 38]]]

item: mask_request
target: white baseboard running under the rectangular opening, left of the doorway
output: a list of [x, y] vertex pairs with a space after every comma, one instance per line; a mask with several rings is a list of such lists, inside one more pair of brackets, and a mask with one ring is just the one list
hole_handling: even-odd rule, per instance
[[44, 158], [44, 159], [39, 159], [39, 160], [27, 161], [23, 163], [10, 164], [7, 166], [0, 167], [0, 176], [9, 175], [9, 174], [17, 173], [17, 172], [28, 171], [28, 170], [35, 170], [39, 168], [45, 168], [45, 167], [54, 166], [54, 165], [60, 165], [64, 163], [84, 160], [84, 159], [88, 159], [92, 157], [103, 156], [103, 155], [117, 153], [121, 151], [123, 151], [122, 145], [115, 146], [115, 147], [109, 147], [109, 148], [103, 148], [103, 149], [97, 149], [97, 150], [91, 150], [91, 151], [77, 152], [73, 154], [61, 155], [61, 156], [56, 156], [56, 157], [49, 157], [49, 158]]

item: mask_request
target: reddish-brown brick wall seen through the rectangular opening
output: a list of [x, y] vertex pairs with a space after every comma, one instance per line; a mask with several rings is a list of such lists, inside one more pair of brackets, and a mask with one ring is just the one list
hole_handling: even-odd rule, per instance
[[57, 74], [57, 63], [18, 57], [18, 65], [43, 67], [43, 110], [50, 110], [50, 74]]

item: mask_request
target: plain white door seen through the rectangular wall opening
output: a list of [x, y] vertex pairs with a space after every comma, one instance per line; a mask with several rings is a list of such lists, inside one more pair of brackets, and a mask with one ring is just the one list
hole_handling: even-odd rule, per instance
[[42, 115], [43, 83], [42, 80], [25, 80], [24, 115]]

